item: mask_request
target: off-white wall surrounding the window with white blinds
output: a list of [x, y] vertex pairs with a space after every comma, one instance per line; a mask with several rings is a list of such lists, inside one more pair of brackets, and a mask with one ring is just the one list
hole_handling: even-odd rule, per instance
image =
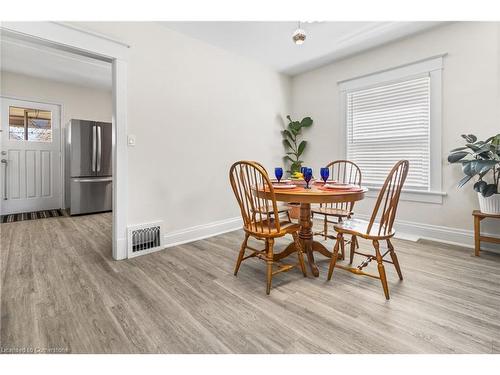
[[[432, 29], [380, 48], [300, 74], [292, 80], [292, 108], [297, 117], [311, 116], [314, 125], [305, 134], [310, 140], [304, 156], [319, 168], [328, 161], [343, 158], [339, 89], [337, 82], [371, 72], [410, 63], [436, 54], [448, 53], [443, 70], [443, 204], [401, 202], [398, 219], [452, 228], [443, 233], [450, 240], [464, 240], [472, 229], [471, 212], [478, 208], [471, 186], [458, 190], [461, 170], [448, 165], [448, 150], [461, 145], [460, 134], [479, 138], [500, 133], [500, 26], [498, 23], [460, 22]], [[374, 199], [366, 199], [356, 212], [368, 214]], [[500, 233], [498, 222], [485, 223], [489, 232]], [[415, 226], [413, 226], [415, 227]], [[412, 225], [404, 226], [413, 230]], [[449, 236], [450, 233], [456, 235]], [[471, 243], [470, 237], [467, 239]]]

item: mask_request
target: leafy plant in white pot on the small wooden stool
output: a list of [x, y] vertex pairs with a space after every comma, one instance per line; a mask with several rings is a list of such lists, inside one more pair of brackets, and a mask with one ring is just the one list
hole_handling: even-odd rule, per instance
[[465, 146], [450, 151], [448, 161], [462, 164], [464, 177], [458, 187], [477, 177], [474, 191], [485, 214], [500, 214], [500, 134], [478, 141], [473, 134], [463, 134]]

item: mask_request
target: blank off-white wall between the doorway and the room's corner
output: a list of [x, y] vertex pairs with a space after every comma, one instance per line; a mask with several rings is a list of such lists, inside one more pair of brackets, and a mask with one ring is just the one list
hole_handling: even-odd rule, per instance
[[238, 217], [229, 167], [280, 163], [289, 78], [155, 23], [77, 25], [131, 46], [129, 224], [164, 220], [168, 236]]

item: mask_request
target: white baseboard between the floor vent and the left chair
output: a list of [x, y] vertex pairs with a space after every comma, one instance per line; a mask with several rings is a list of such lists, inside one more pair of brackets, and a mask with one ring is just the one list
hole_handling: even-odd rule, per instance
[[219, 234], [232, 232], [242, 227], [241, 217], [214, 221], [208, 224], [181, 229], [167, 233], [163, 236], [164, 247], [182, 245], [188, 242], [202, 240], [204, 238], [217, 236]]

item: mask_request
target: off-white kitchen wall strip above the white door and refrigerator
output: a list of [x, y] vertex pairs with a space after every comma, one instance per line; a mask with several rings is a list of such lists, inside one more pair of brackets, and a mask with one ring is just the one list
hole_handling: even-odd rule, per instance
[[4, 71], [0, 81], [2, 95], [61, 104], [63, 127], [72, 118], [111, 121], [111, 91]]

